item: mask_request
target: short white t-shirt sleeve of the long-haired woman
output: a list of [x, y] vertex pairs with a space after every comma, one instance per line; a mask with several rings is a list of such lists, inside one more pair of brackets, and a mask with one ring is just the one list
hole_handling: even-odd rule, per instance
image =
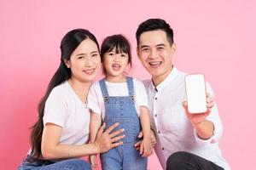
[[44, 126], [46, 123], [54, 123], [60, 127], [64, 127], [67, 117], [67, 100], [63, 93], [54, 88], [49, 94], [44, 106]]

